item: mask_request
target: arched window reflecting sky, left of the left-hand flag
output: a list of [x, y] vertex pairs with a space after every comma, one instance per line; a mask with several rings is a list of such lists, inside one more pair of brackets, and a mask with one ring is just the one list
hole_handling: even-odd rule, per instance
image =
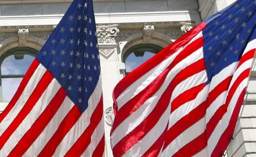
[[38, 51], [31, 48], [14, 48], [0, 58], [0, 102], [9, 102]]

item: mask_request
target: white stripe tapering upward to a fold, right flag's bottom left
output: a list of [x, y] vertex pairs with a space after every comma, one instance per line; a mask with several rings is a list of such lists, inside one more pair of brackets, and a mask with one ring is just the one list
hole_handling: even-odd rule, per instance
[[162, 114], [161, 118], [158, 120], [157, 124], [155, 124], [154, 127], [150, 130], [149, 133], [147, 133], [142, 140], [137, 142], [129, 151], [126, 152], [125, 156], [142, 156], [145, 154], [145, 152], [150, 149], [150, 147], [155, 143], [155, 141], [158, 140], [158, 138], [161, 136], [163, 131], [166, 128], [166, 125], [168, 124], [168, 117], [170, 114], [170, 104], [168, 105], [168, 108], [165, 110], [165, 112]]

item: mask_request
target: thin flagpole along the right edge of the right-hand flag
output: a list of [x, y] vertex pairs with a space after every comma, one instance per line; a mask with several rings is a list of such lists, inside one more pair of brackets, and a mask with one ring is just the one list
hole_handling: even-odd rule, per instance
[[[247, 88], [248, 88], [248, 85], [249, 85], [249, 83], [250, 83], [251, 73], [252, 73], [252, 71], [255, 69], [255, 65], [256, 65], [255, 60], [256, 60], [256, 50], [255, 50], [255, 52], [254, 52], [253, 62], [251, 63], [251, 67], [252, 67], [252, 68], [251, 68], [250, 73], [249, 73], [249, 80], [248, 80], [247, 85], [246, 85], [246, 99], [245, 99], [244, 102], [243, 102], [243, 107], [242, 107], [242, 109], [241, 109], [239, 118], [237, 119], [237, 122], [238, 122], [238, 123], [236, 124], [235, 130], [234, 130], [234, 134], [235, 134], [235, 135], [237, 134], [236, 131], [237, 131], [237, 128], [238, 128], [238, 126], [239, 126], [239, 124], [240, 124], [240, 119], [241, 119], [242, 113], [243, 113], [243, 111], [244, 111], [244, 106], [246, 105], [248, 95], [250, 94], [250, 92], [247, 91]], [[234, 140], [234, 137], [232, 137], [232, 140]], [[230, 147], [230, 145], [231, 145], [231, 142], [230, 142], [230, 144], [229, 144], [229, 147]], [[225, 154], [223, 154], [223, 156], [226, 156], [226, 155], [227, 155], [227, 150], [229, 149], [229, 147], [227, 147], [226, 152], [225, 152]]]

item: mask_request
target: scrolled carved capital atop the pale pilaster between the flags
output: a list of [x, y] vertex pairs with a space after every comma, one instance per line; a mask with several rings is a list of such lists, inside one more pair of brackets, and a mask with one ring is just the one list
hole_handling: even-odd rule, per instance
[[111, 26], [97, 26], [98, 44], [116, 44], [116, 37], [118, 37], [118, 25]]

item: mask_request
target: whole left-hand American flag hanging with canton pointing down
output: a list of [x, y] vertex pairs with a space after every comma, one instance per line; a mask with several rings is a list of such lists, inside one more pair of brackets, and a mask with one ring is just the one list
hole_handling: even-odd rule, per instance
[[0, 115], [0, 156], [102, 156], [92, 0], [74, 0]]

